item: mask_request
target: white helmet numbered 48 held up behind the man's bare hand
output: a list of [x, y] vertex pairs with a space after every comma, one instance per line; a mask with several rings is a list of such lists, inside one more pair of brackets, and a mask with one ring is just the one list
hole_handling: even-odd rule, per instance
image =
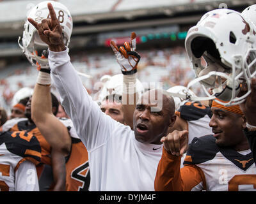
[[41, 68], [49, 68], [47, 59], [48, 45], [46, 45], [38, 36], [36, 28], [29, 23], [28, 17], [32, 18], [36, 22], [41, 22], [44, 18], [51, 18], [49, 15], [49, 10], [47, 3], [51, 3], [56, 17], [60, 21], [63, 32], [63, 41], [68, 47], [70, 43], [70, 37], [73, 29], [73, 22], [70, 12], [67, 7], [56, 1], [43, 1], [37, 4], [34, 8], [29, 11], [28, 16], [25, 20], [24, 31], [22, 36], [22, 45], [20, 45], [20, 37], [18, 40], [22, 52], [28, 58], [33, 66], [40, 65]]

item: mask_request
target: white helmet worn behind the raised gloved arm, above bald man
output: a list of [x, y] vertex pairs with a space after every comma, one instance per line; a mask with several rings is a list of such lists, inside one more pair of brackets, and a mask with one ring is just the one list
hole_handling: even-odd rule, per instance
[[[107, 96], [110, 95], [118, 95], [122, 96], [123, 92], [123, 75], [118, 74], [112, 77], [109, 75], [104, 75], [101, 79], [104, 82], [102, 89], [100, 90], [99, 98], [97, 99], [98, 103], [101, 103], [106, 99]], [[138, 97], [140, 97], [144, 92], [143, 84], [136, 79], [136, 92], [138, 92]]]

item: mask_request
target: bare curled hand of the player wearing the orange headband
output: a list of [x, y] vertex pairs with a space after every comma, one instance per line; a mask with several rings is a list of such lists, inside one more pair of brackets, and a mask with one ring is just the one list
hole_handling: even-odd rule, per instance
[[175, 156], [180, 156], [188, 150], [188, 131], [173, 131], [161, 138], [164, 149]]

